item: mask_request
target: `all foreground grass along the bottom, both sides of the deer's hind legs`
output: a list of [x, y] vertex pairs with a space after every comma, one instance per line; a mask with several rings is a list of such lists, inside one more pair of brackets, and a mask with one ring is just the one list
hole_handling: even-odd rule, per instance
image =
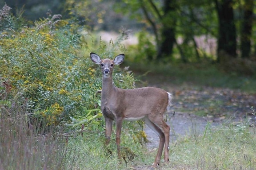
[[[8, 111], [8, 112], [7, 112]], [[14, 110], [13, 110], [14, 111]], [[13, 114], [15, 113], [15, 114]], [[22, 113], [22, 114], [21, 114]], [[139, 170], [148, 169], [156, 149], [148, 151], [134, 143], [124, 126], [121, 137], [126, 159], [136, 155], [127, 165], [117, 159], [115, 135], [108, 149], [104, 147], [104, 131], [49, 133], [38, 135], [28, 127], [22, 110], [5, 110], [0, 116], [0, 169], [4, 170]], [[246, 120], [240, 123], [211, 124], [199, 134], [176, 136], [170, 143], [170, 163], [161, 162], [160, 170], [254, 170], [256, 169], [256, 127]], [[68, 137], [69, 135], [69, 137]], [[127, 159], [128, 160], [128, 159]]]

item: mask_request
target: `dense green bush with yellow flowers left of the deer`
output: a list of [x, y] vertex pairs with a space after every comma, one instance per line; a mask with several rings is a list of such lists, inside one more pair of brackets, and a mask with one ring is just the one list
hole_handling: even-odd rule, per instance
[[[17, 18], [10, 17], [9, 9], [4, 6], [7, 13], [1, 18], [6, 23], [0, 40], [1, 109], [26, 108], [30, 124], [38, 130], [74, 124], [102, 127], [100, 97], [95, 97], [101, 74], [89, 60], [89, 52], [113, 57], [116, 50], [124, 50], [119, 44], [122, 37], [109, 45], [92, 37], [82, 39], [82, 28], [74, 20], [51, 14], [33, 27], [16, 27]], [[119, 72], [114, 75], [116, 85], [132, 88], [132, 75]]]

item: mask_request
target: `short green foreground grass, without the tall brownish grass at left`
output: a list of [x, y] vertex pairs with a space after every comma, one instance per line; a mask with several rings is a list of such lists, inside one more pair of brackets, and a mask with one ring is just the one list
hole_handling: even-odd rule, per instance
[[[196, 132], [194, 132], [196, 133]], [[256, 128], [246, 122], [224, 124], [211, 128], [208, 124], [203, 134], [180, 136], [170, 143], [170, 163], [161, 162], [160, 170], [253, 170], [256, 168]], [[142, 147], [133, 147], [128, 139], [123, 145], [138, 155], [133, 162], [119, 164], [116, 158], [116, 146], [113, 141], [113, 155], [106, 156], [102, 139], [99, 136], [81, 136], [69, 141], [76, 148], [79, 158], [76, 168], [79, 170], [131, 170], [147, 169], [156, 156], [156, 150], [147, 151]], [[96, 138], [95, 138], [96, 137]], [[101, 137], [100, 137], [101, 138]], [[125, 138], [125, 137], [124, 137]], [[101, 142], [100, 142], [101, 141]]]

